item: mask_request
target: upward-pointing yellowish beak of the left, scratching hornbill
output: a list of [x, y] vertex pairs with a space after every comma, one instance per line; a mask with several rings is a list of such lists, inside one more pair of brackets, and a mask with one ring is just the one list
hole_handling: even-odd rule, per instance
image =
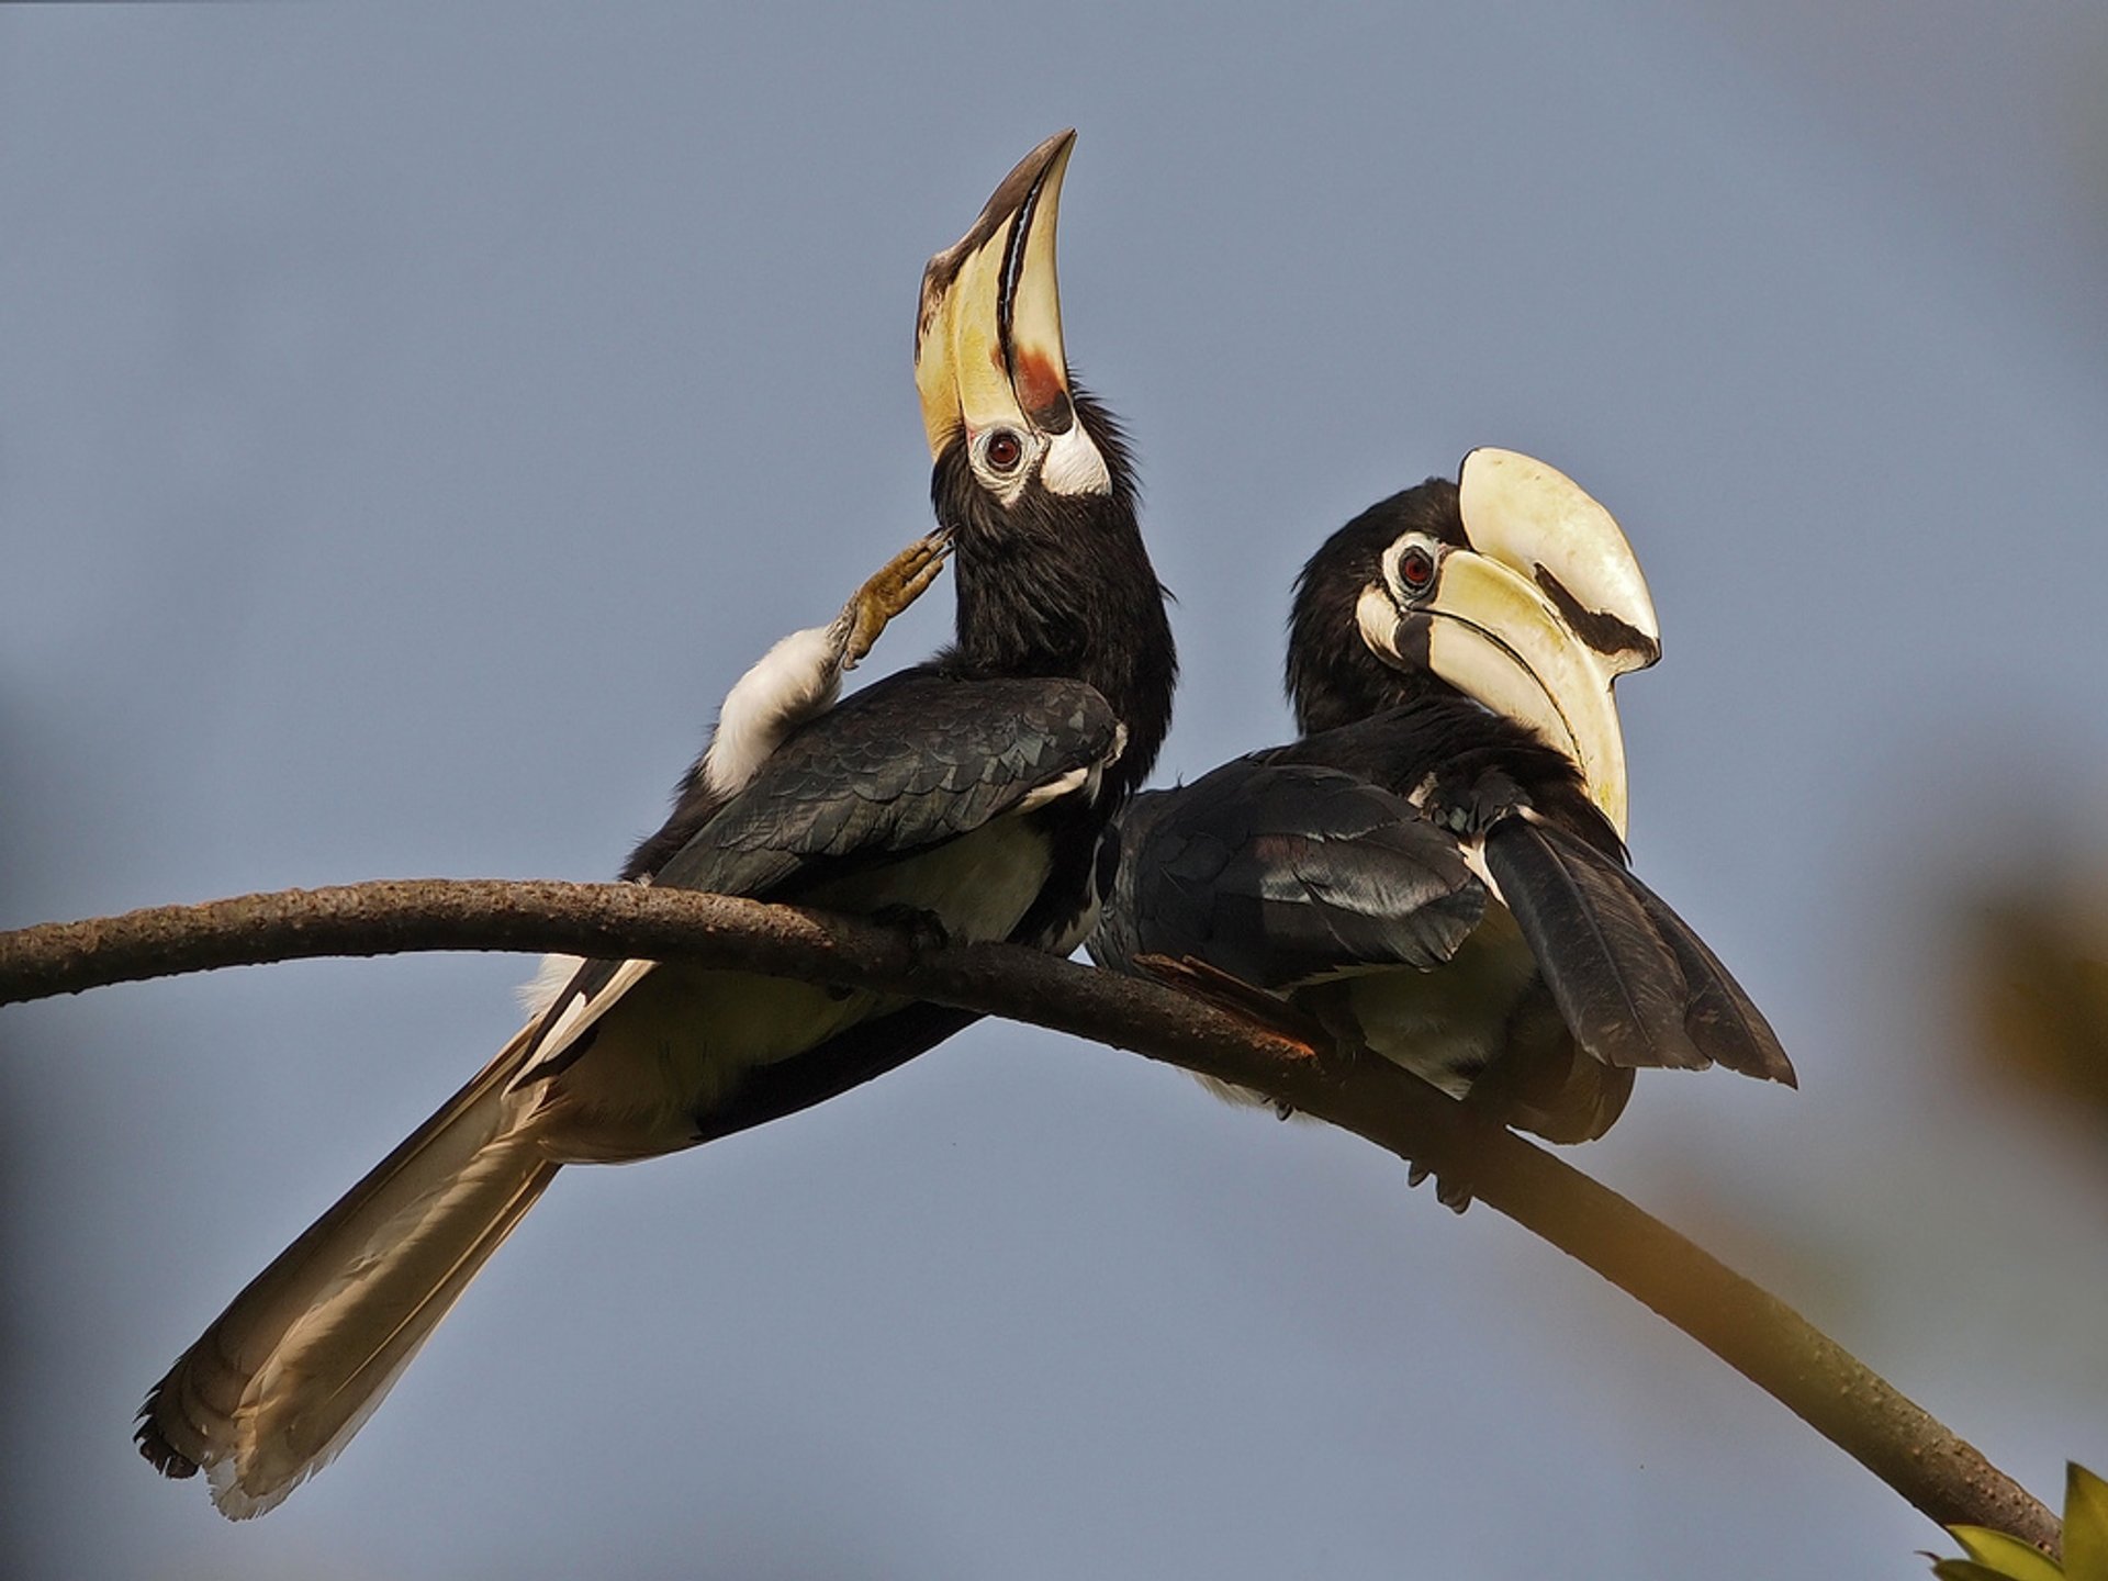
[[1003, 424], [1075, 424], [1060, 339], [1054, 228], [1075, 133], [1048, 137], [1003, 177], [974, 228], [923, 270], [915, 388], [930, 455]]

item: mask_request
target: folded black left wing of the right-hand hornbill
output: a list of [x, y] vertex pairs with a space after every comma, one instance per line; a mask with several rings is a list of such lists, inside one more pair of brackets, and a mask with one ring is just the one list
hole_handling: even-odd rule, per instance
[[1431, 968], [1486, 892], [1457, 841], [1351, 774], [1237, 759], [1121, 814], [1090, 953], [1193, 957], [1263, 989], [1353, 968]]

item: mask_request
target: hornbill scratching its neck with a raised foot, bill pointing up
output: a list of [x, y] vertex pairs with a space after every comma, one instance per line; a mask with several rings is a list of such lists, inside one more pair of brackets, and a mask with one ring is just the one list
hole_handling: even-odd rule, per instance
[[[835, 702], [936, 573], [921, 544], [784, 639], [719, 717], [626, 879], [913, 917], [1067, 953], [1098, 837], [1170, 725], [1174, 653], [1128, 451], [1062, 350], [1054, 226], [1073, 133], [1035, 148], [923, 274], [915, 382], [955, 641]], [[972, 1014], [734, 970], [554, 959], [540, 1012], [204, 1330], [139, 1412], [232, 1518], [325, 1465], [483, 1261], [578, 1162], [672, 1153], [831, 1098]]]

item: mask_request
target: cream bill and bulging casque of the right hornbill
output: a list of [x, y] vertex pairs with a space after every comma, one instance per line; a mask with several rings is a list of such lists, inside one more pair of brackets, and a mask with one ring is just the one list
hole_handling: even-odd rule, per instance
[[1429, 542], [1421, 584], [1423, 567], [1393, 546], [1387, 586], [1370, 584], [1355, 611], [1362, 635], [1562, 748], [1623, 837], [1625, 736], [1611, 687], [1661, 658], [1632, 544], [1573, 479], [1516, 451], [1471, 451], [1457, 493], [1469, 548]]

